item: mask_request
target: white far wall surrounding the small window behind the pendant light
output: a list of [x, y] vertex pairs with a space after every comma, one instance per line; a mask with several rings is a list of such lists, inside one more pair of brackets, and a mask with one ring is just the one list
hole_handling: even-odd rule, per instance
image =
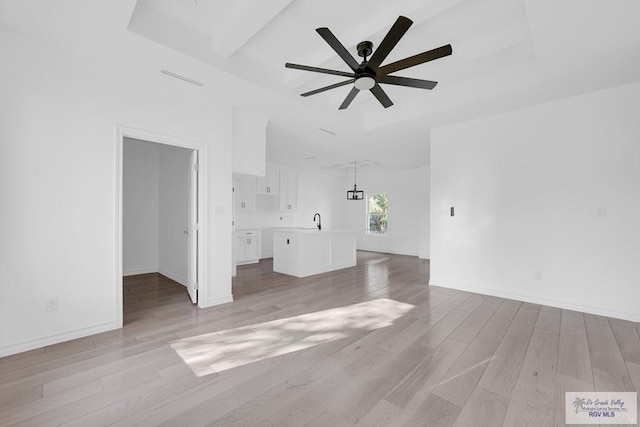
[[[347, 190], [353, 188], [353, 177], [343, 180], [340, 191], [345, 212], [345, 226], [354, 230], [358, 249], [401, 255], [420, 254], [421, 232], [429, 197], [425, 168], [383, 174], [358, 175], [358, 189], [368, 194], [387, 193], [389, 200], [388, 227], [385, 235], [367, 234], [366, 200], [347, 200]], [[423, 245], [424, 246], [424, 245]], [[423, 252], [423, 255], [427, 255]]]

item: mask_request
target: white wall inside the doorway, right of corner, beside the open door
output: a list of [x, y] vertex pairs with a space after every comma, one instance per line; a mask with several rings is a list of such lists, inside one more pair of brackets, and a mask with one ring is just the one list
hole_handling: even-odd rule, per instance
[[191, 150], [160, 145], [158, 271], [187, 286], [189, 164]]

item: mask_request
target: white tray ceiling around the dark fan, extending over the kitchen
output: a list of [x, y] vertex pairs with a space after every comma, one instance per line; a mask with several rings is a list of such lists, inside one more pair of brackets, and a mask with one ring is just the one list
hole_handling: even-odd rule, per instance
[[[348, 71], [316, 28], [329, 27], [357, 58], [356, 44], [371, 40], [375, 49], [399, 15], [414, 24], [385, 63], [453, 46], [449, 57], [397, 73], [436, 80], [434, 90], [384, 85], [395, 104], [388, 109], [364, 92], [339, 111], [350, 86], [299, 96], [343, 78], [286, 69], [286, 62]], [[267, 113], [270, 161], [321, 171], [343, 171], [354, 160], [415, 168], [429, 162], [432, 128], [636, 81], [638, 16], [637, 0], [0, 3], [0, 21], [69, 48], [102, 56], [110, 45], [113, 56], [130, 49], [148, 65], [140, 72], [167, 69], [205, 83], [203, 90], [224, 87], [232, 102]], [[131, 37], [158, 47], [141, 53]]]

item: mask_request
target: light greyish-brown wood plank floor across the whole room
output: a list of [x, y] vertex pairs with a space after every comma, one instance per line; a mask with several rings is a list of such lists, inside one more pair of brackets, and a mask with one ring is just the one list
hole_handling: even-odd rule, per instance
[[640, 389], [640, 325], [428, 275], [371, 252], [305, 279], [266, 260], [205, 310], [128, 278], [122, 330], [0, 359], [0, 425], [550, 426], [565, 391]]

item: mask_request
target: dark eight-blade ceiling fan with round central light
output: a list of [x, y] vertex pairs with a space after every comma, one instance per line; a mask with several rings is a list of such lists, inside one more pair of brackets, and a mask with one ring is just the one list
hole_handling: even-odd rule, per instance
[[[315, 73], [332, 74], [336, 76], [349, 77], [349, 80], [335, 83], [329, 86], [322, 87], [320, 89], [305, 92], [301, 96], [311, 96], [317, 93], [321, 93], [330, 89], [335, 89], [340, 86], [346, 86], [353, 83], [353, 88], [340, 105], [340, 110], [344, 110], [351, 104], [351, 101], [356, 97], [358, 92], [362, 90], [370, 90], [373, 96], [384, 106], [384, 108], [391, 107], [393, 102], [387, 96], [387, 94], [380, 87], [380, 83], [390, 84], [396, 86], [407, 86], [419, 89], [433, 89], [437, 82], [430, 80], [411, 79], [408, 77], [391, 76], [391, 73], [404, 70], [405, 68], [413, 67], [425, 62], [433, 61], [448, 55], [451, 55], [451, 45], [441, 46], [436, 49], [432, 49], [426, 52], [419, 53], [414, 56], [410, 56], [400, 61], [392, 62], [385, 66], [380, 66], [382, 61], [389, 55], [391, 50], [400, 41], [404, 33], [411, 27], [413, 21], [404, 16], [398, 17], [393, 24], [387, 35], [384, 37], [380, 46], [373, 52], [373, 43], [370, 41], [363, 41], [358, 43], [358, 55], [364, 58], [362, 63], [358, 62], [351, 56], [347, 49], [338, 41], [336, 36], [326, 27], [317, 28], [316, 32], [320, 34], [320, 37], [326, 41], [329, 46], [347, 63], [352, 72], [344, 72], [338, 70], [329, 70], [327, 68], [309, 67], [307, 65], [298, 65], [286, 63], [285, 67], [294, 68], [296, 70], [313, 71]], [[371, 53], [373, 52], [373, 55]], [[367, 57], [369, 60], [367, 60]]]

